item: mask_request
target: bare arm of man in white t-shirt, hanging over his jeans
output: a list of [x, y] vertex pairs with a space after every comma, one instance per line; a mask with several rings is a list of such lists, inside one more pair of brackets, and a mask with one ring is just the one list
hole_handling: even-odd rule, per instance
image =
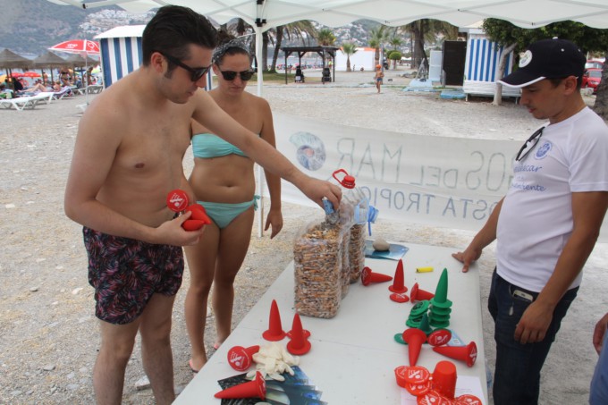
[[582, 271], [600, 233], [608, 191], [572, 193], [574, 227], [562, 249], [553, 274], [545, 287], [526, 309], [515, 329], [515, 340], [522, 344], [541, 342], [553, 319], [553, 310]]

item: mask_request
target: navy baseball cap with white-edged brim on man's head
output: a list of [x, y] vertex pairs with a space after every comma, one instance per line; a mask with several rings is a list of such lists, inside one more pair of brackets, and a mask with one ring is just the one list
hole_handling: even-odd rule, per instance
[[519, 69], [498, 80], [511, 88], [521, 89], [544, 79], [581, 77], [587, 57], [567, 39], [541, 39], [519, 57]]

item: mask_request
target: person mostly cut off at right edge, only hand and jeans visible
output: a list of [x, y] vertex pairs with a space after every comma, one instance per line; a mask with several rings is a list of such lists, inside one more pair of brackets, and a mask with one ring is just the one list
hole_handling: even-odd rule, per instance
[[593, 333], [593, 345], [600, 355], [595, 365], [595, 372], [589, 390], [589, 405], [608, 403], [608, 313], [597, 321]]

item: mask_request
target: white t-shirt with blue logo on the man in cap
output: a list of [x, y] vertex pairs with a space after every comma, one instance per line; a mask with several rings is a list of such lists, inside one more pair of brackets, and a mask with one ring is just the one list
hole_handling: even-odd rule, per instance
[[571, 193], [584, 191], [608, 191], [608, 127], [588, 107], [548, 125], [513, 164], [496, 229], [503, 279], [530, 291], [545, 287], [572, 232]]

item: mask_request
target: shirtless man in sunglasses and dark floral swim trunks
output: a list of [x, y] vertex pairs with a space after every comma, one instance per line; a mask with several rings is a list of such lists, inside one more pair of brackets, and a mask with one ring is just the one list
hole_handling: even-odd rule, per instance
[[175, 293], [182, 283], [182, 246], [190, 213], [173, 217], [170, 190], [194, 195], [183, 173], [190, 119], [291, 181], [317, 204], [338, 207], [341, 191], [301, 173], [266, 141], [224, 113], [205, 91], [216, 34], [205, 17], [165, 6], [142, 37], [143, 64], [101, 93], [80, 126], [65, 190], [65, 212], [84, 225], [89, 283], [95, 288], [101, 347], [93, 370], [97, 403], [120, 403], [124, 372], [141, 335], [141, 359], [156, 403], [170, 403], [170, 343]]

